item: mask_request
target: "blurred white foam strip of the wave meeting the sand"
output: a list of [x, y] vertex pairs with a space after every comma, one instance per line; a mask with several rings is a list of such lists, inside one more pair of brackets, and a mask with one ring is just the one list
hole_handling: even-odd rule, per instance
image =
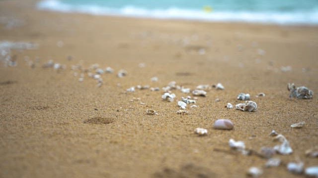
[[97, 5], [72, 5], [59, 0], [43, 0], [37, 4], [42, 10], [60, 12], [79, 12], [93, 15], [114, 15], [127, 17], [146, 17], [158, 19], [187, 19], [214, 22], [251, 22], [273, 24], [318, 25], [318, 11], [307, 12], [249, 12], [215, 11], [207, 13], [200, 10], [167, 8], [145, 9], [135, 6], [109, 8]]

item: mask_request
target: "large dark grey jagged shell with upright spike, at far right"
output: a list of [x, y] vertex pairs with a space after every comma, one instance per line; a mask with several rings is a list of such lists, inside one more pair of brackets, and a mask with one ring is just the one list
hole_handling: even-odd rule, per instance
[[290, 91], [289, 97], [299, 98], [299, 99], [312, 99], [314, 92], [307, 87], [295, 87], [295, 84], [288, 84], [287, 89]]

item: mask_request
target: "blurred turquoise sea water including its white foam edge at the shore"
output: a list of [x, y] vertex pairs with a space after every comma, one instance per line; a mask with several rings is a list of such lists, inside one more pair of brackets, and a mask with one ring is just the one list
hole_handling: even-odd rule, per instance
[[92, 15], [318, 25], [318, 0], [42, 0], [37, 7]]

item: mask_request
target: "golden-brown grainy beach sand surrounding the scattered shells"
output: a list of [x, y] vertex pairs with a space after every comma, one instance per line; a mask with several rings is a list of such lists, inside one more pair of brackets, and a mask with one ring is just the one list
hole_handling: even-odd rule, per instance
[[[214, 149], [230, 150], [230, 138], [254, 150], [274, 146], [272, 130], [284, 134], [294, 150], [276, 156], [285, 164], [299, 158], [305, 167], [318, 165], [317, 158], [305, 156], [318, 145], [317, 97], [290, 99], [287, 91], [287, 83], [318, 91], [318, 27], [64, 14], [38, 11], [26, 0], [0, 1], [0, 16], [22, 22], [12, 28], [0, 24], [1, 41], [39, 45], [13, 50], [17, 67], [0, 66], [0, 177], [245, 177], [249, 167], [264, 167], [266, 159]], [[24, 56], [39, 58], [35, 68]], [[42, 68], [49, 59], [66, 70]], [[79, 63], [125, 69], [128, 75], [103, 74], [98, 88], [87, 75], [82, 83], [74, 77], [71, 65]], [[282, 66], [292, 71], [282, 72]], [[154, 76], [157, 83], [150, 80]], [[221, 82], [226, 89], [199, 97], [189, 115], [175, 113], [176, 101], [187, 95], [179, 90], [172, 103], [161, 100], [162, 91], [125, 93], [132, 86], [162, 88], [170, 81], [191, 89]], [[239, 92], [251, 94], [257, 112], [224, 107], [239, 103]], [[258, 92], [266, 96], [256, 98]], [[141, 100], [131, 102], [133, 97]], [[159, 115], [147, 115], [147, 109]], [[214, 130], [220, 118], [230, 119], [234, 130]], [[300, 121], [304, 128], [290, 127]], [[195, 135], [197, 127], [208, 135]], [[281, 165], [264, 168], [263, 177], [299, 176]]]

